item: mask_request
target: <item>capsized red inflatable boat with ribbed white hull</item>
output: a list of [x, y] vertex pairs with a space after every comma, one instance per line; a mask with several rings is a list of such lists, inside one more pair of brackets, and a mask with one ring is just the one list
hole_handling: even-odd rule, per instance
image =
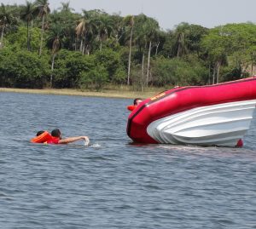
[[174, 88], [143, 100], [128, 117], [138, 143], [237, 146], [250, 127], [256, 77]]

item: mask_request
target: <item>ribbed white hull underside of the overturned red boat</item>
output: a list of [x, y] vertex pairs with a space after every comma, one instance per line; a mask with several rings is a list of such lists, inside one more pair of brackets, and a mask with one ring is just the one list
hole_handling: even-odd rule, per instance
[[256, 100], [202, 106], [150, 123], [148, 135], [159, 143], [236, 146], [253, 118]]

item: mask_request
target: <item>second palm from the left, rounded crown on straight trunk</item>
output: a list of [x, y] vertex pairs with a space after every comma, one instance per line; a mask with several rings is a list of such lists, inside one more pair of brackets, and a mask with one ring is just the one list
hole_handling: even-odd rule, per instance
[[37, 11], [35, 8], [35, 5], [31, 2], [26, 1], [26, 5], [21, 6], [20, 9], [20, 19], [26, 21], [26, 45], [27, 50], [30, 50], [30, 38], [31, 33], [29, 33], [29, 23], [31, 22], [32, 27], [32, 21], [36, 17]]

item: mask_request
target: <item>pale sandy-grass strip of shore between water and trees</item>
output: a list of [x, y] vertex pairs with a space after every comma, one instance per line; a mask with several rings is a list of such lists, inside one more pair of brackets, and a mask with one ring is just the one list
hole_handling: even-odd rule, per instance
[[103, 97], [103, 98], [119, 98], [119, 99], [134, 99], [149, 97], [158, 94], [157, 91], [127, 91], [122, 89], [103, 89], [100, 92], [96, 91], [81, 91], [77, 89], [13, 89], [0, 88], [0, 92], [25, 93], [25, 94], [54, 94], [54, 95], [71, 95], [84, 97]]

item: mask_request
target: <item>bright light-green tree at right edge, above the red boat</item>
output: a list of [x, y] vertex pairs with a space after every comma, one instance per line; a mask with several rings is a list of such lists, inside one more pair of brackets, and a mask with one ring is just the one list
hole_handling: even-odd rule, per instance
[[[207, 54], [207, 61], [212, 66], [212, 72], [220, 72], [218, 77], [220, 81], [234, 78], [235, 75], [236, 78], [240, 78], [244, 75], [243, 70], [247, 69], [248, 65], [254, 65], [255, 37], [256, 26], [250, 23], [241, 23], [213, 28], [202, 39], [201, 48]], [[234, 77], [226, 77], [222, 68], [230, 69], [228, 72], [239, 71], [234, 72]], [[237, 76], [237, 72], [240, 72], [240, 76]]]

